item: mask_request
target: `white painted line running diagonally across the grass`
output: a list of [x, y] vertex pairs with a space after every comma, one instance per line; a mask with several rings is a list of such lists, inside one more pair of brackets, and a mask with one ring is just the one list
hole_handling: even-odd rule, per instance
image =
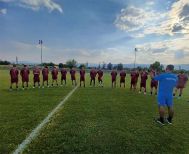
[[68, 95], [48, 114], [48, 116], [29, 134], [28, 137], [21, 144], [18, 145], [17, 149], [13, 152], [13, 154], [23, 153], [25, 148], [34, 140], [40, 133], [41, 129], [50, 121], [52, 116], [61, 108], [61, 106], [69, 99], [69, 97], [75, 92], [78, 88], [76, 86], [72, 91], [68, 93]]

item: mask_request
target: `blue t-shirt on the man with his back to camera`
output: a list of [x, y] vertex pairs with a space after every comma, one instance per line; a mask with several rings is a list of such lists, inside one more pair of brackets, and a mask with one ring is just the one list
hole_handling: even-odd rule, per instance
[[172, 96], [173, 89], [177, 85], [178, 77], [173, 73], [163, 73], [154, 77], [159, 81], [158, 96]]

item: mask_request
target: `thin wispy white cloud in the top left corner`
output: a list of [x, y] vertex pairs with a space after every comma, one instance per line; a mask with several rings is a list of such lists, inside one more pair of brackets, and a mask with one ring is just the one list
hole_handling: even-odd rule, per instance
[[58, 3], [55, 3], [54, 0], [0, 0], [0, 2], [14, 3], [15, 5], [34, 11], [38, 11], [44, 7], [50, 12], [57, 10], [60, 13], [63, 13], [62, 7]]

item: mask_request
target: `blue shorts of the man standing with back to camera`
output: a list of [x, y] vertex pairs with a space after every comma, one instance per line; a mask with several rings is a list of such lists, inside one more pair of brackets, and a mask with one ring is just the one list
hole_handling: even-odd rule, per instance
[[158, 106], [173, 106], [173, 96], [165, 96], [165, 95], [159, 95], [158, 96]]

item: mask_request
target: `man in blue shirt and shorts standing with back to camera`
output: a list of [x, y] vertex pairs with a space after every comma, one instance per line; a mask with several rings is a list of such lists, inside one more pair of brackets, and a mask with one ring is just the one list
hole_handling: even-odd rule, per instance
[[153, 79], [159, 81], [158, 89], [158, 108], [159, 108], [159, 118], [156, 122], [164, 125], [165, 120], [165, 107], [168, 107], [168, 118], [167, 123], [172, 124], [172, 118], [174, 115], [173, 111], [173, 90], [177, 85], [178, 77], [172, 73], [174, 70], [173, 65], [168, 65], [166, 67], [166, 72], [155, 76]]

